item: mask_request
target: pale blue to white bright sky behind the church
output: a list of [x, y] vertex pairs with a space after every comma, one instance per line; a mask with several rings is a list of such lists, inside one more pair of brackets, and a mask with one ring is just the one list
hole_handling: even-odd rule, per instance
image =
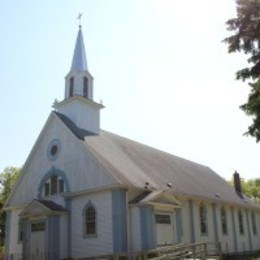
[[233, 0], [56, 0], [0, 3], [0, 170], [22, 166], [64, 96], [79, 12], [103, 129], [207, 165], [259, 177], [260, 145], [243, 136], [246, 83], [228, 54]]

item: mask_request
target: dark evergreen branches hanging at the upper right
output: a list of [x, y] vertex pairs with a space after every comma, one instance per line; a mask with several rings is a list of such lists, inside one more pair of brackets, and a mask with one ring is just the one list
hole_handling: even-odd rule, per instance
[[250, 80], [247, 103], [240, 108], [252, 124], [245, 133], [260, 141], [260, 0], [236, 0], [237, 17], [227, 21], [227, 29], [234, 34], [224, 40], [229, 53], [243, 52], [248, 66], [236, 72], [236, 78]]

